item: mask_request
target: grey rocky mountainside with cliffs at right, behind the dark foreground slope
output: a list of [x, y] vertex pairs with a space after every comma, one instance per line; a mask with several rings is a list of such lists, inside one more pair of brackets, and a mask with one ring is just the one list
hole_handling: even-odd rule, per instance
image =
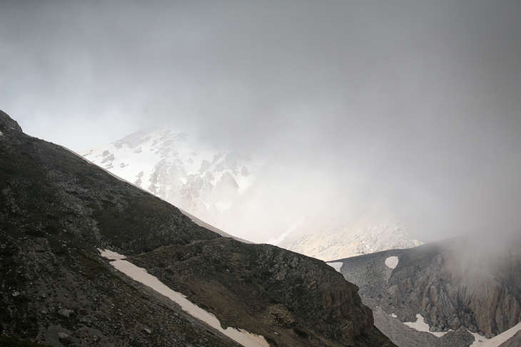
[[521, 321], [521, 242], [512, 239], [501, 252], [485, 252], [492, 243], [467, 235], [335, 262], [360, 287], [364, 304], [378, 310], [376, 325], [398, 346], [418, 346], [403, 341], [410, 334], [398, 323], [415, 322], [418, 314], [431, 332], [465, 328], [485, 341]]

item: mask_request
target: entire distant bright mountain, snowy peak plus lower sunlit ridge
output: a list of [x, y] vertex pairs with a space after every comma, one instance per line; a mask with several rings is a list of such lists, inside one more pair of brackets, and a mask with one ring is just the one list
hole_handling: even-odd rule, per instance
[[[258, 210], [273, 204], [269, 200], [276, 198], [265, 192], [280, 184], [277, 177], [283, 175], [283, 170], [271, 167], [270, 171], [266, 158], [252, 158], [237, 150], [217, 150], [196, 135], [173, 127], [141, 130], [79, 154], [230, 234], [244, 232], [265, 220]], [[355, 221], [338, 215], [320, 217], [297, 221], [267, 243], [323, 260], [420, 244], [409, 237], [405, 225], [396, 218], [376, 214]], [[263, 227], [284, 230], [285, 219], [279, 219]]]

